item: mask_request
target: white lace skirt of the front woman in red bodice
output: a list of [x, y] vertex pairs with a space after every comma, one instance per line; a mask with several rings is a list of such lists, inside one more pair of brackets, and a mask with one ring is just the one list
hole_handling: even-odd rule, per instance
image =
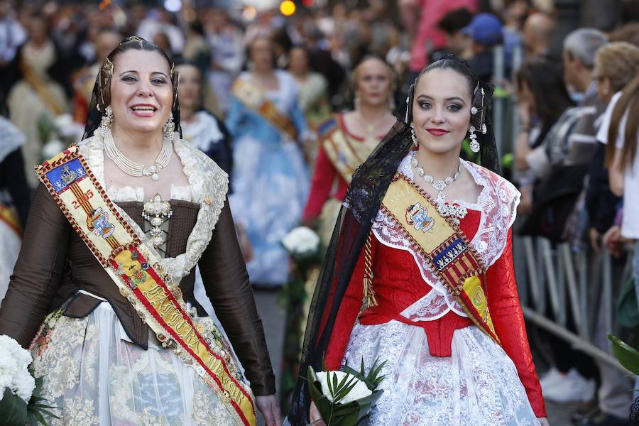
[[356, 324], [344, 362], [386, 361], [368, 425], [539, 425], [515, 364], [475, 326], [457, 329], [452, 356], [430, 354], [424, 330], [402, 322]]

